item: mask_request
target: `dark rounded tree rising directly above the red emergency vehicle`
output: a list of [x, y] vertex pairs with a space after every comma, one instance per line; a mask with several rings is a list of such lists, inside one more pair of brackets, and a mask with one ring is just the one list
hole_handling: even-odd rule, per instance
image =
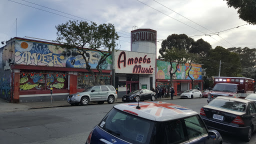
[[209, 51], [209, 56], [203, 61], [206, 75], [217, 76], [219, 73], [219, 60], [221, 60], [220, 76], [237, 76], [241, 71], [241, 63], [237, 53], [216, 46]]

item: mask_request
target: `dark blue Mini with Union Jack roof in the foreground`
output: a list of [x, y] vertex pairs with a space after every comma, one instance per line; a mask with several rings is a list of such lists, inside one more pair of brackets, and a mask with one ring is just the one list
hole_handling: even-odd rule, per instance
[[114, 105], [88, 135], [90, 143], [222, 143], [197, 112], [162, 101]]

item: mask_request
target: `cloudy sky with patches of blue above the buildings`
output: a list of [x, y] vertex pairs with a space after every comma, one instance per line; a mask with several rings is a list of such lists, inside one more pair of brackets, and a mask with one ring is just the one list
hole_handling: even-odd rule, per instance
[[[121, 50], [130, 50], [129, 37], [134, 25], [157, 31], [157, 51], [160, 39], [173, 33], [184, 33], [194, 40], [202, 38], [212, 48], [256, 48], [256, 25], [239, 19], [237, 10], [223, 0], [0, 0], [0, 13], [0, 41], [15, 37], [16, 32], [17, 37], [55, 40], [55, 25], [87, 19], [114, 24]], [[240, 27], [233, 28], [237, 26]], [[219, 32], [219, 36], [202, 35], [212, 32]]]

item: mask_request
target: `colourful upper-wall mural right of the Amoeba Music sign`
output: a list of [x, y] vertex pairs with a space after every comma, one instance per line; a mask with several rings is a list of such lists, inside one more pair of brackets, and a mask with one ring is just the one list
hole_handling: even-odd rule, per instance
[[[164, 60], [156, 60], [156, 79], [170, 79], [170, 63]], [[176, 62], [172, 63], [171, 72], [176, 70]], [[177, 71], [173, 74], [173, 79], [190, 79], [188, 77], [189, 65], [188, 63], [179, 64]], [[196, 80], [201, 80], [201, 65], [192, 64], [192, 68], [189, 71], [190, 77]]]

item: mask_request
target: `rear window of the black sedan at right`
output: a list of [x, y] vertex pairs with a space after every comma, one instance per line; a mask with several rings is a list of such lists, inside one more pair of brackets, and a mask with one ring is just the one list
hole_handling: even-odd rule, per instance
[[246, 103], [244, 102], [221, 98], [213, 99], [208, 105], [240, 112], [244, 112], [246, 107]]

